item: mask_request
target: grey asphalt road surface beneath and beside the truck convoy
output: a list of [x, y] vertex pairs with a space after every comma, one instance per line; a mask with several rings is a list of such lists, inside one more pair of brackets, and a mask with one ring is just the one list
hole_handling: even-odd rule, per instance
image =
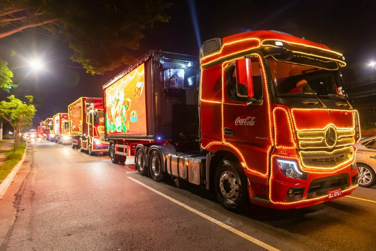
[[140, 176], [131, 159], [115, 165], [46, 141], [28, 151], [2, 250], [376, 250], [376, 186], [308, 208], [233, 213], [204, 188]]

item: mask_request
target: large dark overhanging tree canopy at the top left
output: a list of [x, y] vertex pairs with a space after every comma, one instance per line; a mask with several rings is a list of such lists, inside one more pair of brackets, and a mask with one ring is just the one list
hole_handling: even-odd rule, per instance
[[[1, 0], [0, 38], [42, 27], [67, 39], [88, 73], [102, 74], [133, 61], [143, 31], [167, 22], [165, 0]], [[16, 25], [16, 27], [14, 26]]]

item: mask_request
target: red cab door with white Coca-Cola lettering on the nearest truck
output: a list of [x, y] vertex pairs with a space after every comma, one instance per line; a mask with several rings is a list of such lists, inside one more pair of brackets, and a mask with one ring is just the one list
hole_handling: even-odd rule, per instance
[[[250, 59], [253, 79], [253, 99], [237, 93], [236, 64], [225, 72], [223, 104], [223, 138], [243, 156], [246, 169], [267, 182], [268, 158], [272, 141], [270, 139], [269, 107], [266, 76], [263, 76], [262, 61], [255, 56]], [[239, 78], [239, 75], [238, 75]]]

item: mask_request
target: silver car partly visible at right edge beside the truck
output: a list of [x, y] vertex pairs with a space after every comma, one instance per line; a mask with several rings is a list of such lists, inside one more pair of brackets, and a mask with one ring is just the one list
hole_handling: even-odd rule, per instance
[[371, 187], [376, 184], [376, 136], [362, 139], [354, 147], [357, 149], [358, 184], [361, 187]]

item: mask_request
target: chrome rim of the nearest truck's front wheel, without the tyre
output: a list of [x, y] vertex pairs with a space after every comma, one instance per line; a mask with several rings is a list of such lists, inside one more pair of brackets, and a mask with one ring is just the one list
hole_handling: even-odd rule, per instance
[[239, 182], [230, 171], [225, 171], [220, 176], [220, 191], [229, 201], [235, 201], [239, 196]]

